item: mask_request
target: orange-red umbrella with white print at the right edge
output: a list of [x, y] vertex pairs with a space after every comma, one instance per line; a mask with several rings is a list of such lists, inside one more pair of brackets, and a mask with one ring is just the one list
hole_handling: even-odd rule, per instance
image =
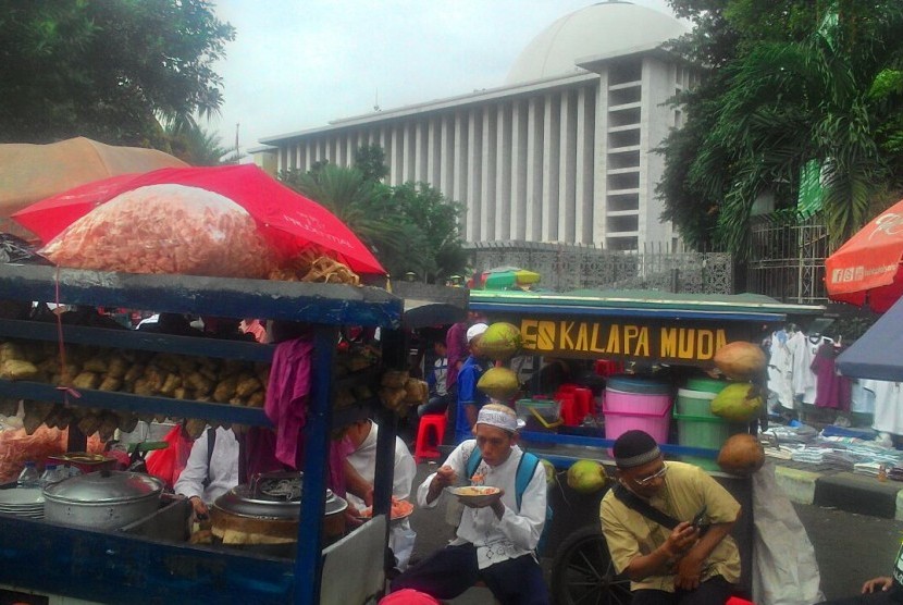
[[903, 295], [903, 200], [873, 219], [825, 260], [832, 300], [885, 312]]

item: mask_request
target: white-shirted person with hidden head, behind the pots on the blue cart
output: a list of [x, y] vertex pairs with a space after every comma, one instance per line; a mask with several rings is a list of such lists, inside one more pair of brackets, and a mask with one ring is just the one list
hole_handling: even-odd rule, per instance
[[221, 427], [214, 430], [208, 427], [191, 445], [188, 462], [173, 485], [173, 491], [190, 499], [195, 516], [203, 519], [210, 513], [210, 505], [236, 485], [238, 440], [232, 429]]

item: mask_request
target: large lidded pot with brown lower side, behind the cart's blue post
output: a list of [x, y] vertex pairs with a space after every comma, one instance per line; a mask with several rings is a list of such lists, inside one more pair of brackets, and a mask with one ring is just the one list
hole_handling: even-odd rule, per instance
[[[301, 473], [263, 473], [233, 487], [210, 509], [212, 531], [223, 544], [293, 556], [301, 514]], [[326, 490], [323, 545], [345, 535], [348, 503]]]

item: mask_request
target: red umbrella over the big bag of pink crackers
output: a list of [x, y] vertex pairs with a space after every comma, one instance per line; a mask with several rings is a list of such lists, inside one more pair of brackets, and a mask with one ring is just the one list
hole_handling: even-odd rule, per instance
[[385, 273], [345, 223], [253, 164], [168, 168], [145, 174], [114, 176], [33, 203], [12, 218], [47, 243], [74, 221], [117, 195], [161, 184], [197, 187], [233, 200], [250, 214], [267, 240], [286, 256], [316, 246], [333, 252], [336, 260], [358, 273]]

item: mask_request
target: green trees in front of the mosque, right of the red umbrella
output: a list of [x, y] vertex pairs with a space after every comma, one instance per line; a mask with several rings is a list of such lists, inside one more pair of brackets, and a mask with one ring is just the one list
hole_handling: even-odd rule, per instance
[[461, 272], [467, 264], [458, 230], [461, 206], [423, 183], [382, 184], [376, 175], [388, 174], [382, 149], [361, 149], [355, 168], [323, 161], [308, 172], [284, 171], [280, 180], [338, 217], [371, 247], [391, 275], [412, 271], [426, 281], [441, 282]]

